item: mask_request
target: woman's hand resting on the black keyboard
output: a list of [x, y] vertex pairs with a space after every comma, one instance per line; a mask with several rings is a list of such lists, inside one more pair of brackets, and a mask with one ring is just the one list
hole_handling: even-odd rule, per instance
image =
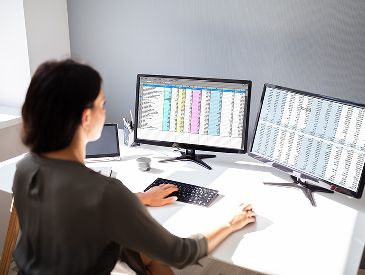
[[176, 196], [166, 196], [177, 191], [178, 188], [173, 184], [161, 184], [159, 186], [150, 188], [145, 193], [136, 193], [135, 195], [142, 201], [144, 205], [157, 207], [176, 201]]

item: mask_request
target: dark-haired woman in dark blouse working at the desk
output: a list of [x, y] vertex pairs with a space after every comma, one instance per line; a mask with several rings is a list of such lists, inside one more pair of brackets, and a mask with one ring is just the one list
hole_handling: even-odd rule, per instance
[[131, 193], [119, 180], [88, 169], [87, 142], [105, 122], [101, 77], [72, 60], [35, 72], [22, 109], [23, 142], [13, 194], [21, 239], [14, 258], [21, 274], [110, 274], [118, 259], [137, 274], [172, 274], [211, 252], [230, 233], [255, 221], [251, 205], [210, 232], [172, 235], [143, 204], [162, 206], [173, 185]]

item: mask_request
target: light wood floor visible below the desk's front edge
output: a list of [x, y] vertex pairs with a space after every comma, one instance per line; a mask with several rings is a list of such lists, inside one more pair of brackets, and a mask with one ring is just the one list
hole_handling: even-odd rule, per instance
[[[209, 258], [203, 258], [200, 260], [202, 266], [193, 265], [184, 269], [175, 269], [173, 271], [175, 275], [261, 275], [249, 270], [245, 270], [230, 264], [225, 264]], [[15, 261], [11, 262], [10, 271], [8, 275], [17, 275], [18, 268]], [[365, 270], [359, 269], [358, 275], [365, 275]]]

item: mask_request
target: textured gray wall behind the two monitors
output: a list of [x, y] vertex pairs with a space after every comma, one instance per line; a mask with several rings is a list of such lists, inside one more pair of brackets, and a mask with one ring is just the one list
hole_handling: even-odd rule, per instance
[[[104, 79], [107, 122], [138, 73], [252, 80], [365, 103], [363, 0], [68, 0], [71, 55]], [[134, 112], [134, 111], [133, 111]]]

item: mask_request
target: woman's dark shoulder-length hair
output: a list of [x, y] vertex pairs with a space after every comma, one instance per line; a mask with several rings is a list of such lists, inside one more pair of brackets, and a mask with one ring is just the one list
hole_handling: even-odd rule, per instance
[[96, 70], [71, 59], [41, 64], [22, 108], [23, 143], [35, 153], [68, 146], [83, 110], [93, 107], [101, 82]]

